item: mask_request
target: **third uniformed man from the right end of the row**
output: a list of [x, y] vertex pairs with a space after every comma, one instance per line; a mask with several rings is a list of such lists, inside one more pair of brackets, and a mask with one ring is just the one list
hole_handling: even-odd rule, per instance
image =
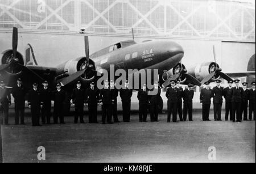
[[243, 88], [239, 87], [240, 80], [234, 80], [236, 87], [232, 88], [232, 113], [233, 113], [233, 122], [241, 122], [241, 103], [243, 96]]

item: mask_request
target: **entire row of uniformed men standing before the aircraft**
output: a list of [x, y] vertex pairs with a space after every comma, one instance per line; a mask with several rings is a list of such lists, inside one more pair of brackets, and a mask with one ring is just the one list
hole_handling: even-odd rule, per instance
[[[17, 85], [13, 87], [12, 94], [15, 99], [15, 124], [24, 124], [24, 101], [26, 90], [22, 86], [22, 79], [17, 80]], [[247, 105], [249, 103], [249, 120], [251, 120], [251, 114], [254, 114], [255, 120], [255, 82], [252, 83], [253, 88], [251, 90], [246, 89], [247, 83], [242, 83], [243, 88], [239, 87], [239, 80], [235, 80], [236, 87], [232, 87], [232, 82], [229, 82], [229, 87], [225, 89], [220, 87], [221, 80], [216, 81], [216, 87], [212, 90], [209, 88], [209, 82], [205, 83], [205, 88], [201, 90], [200, 101], [203, 103], [202, 115], [203, 121], [209, 121], [209, 110], [211, 98], [213, 97], [214, 106], [214, 120], [221, 121], [221, 107], [222, 107], [222, 96], [226, 99], [226, 115], [225, 120], [228, 120], [230, 113], [230, 120], [241, 121], [242, 113], [244, 114], [243, 120], [247, 120]], [[90, 83], [90, 87], [86, 90], [81, 88], [81, 82], [78, 81], [76, 88], [72, 93], [72, 104], [75, 105], [75, 120], [78, 122], [80, 117], [80, 122], [84, 123], [84, 105], [88, 105], [89, 111], [89, 122], [97, 123], [97, 105], [100, 103], [102, 105], [102, 124], [108, 122], [112, 124], [112, 116], [114, 122], [119, 122], [117, 117], [117, 96], [118, 90], [114, 88], [114, 81], [108, 80], [105, 82], [105, 87], [103, 90], [97, 90], [94, 87], [94, 82]], [[129, 83], [126, 81], [125, 89], [120, 90], [120, 96], [122, 99], [123, 108], [123, 121], [130, 121], [130, 107], [131, 107], [131, 96], [133, 91], [129, 89]], [[150, 110], [150, 121], [158, 121], [158, 111], [159, 111], [159, 97], [160, 88], [158, 82], [155, 82], [154, 88], [158, 90], [156, 95], [148, 95], [146, 84], [143, 85], [142, 90], [138, 91], [139, 99], [139, 121], [147, 120], [147, 111]], [[1, 96], [1, 112], [5, 118], [5, 124], [8, 124], [8, 109], [10, 104], [10, 92], [4, 87], [4, 83], [1, 82], [0, 88]], [[188, 84], [188, 88], [183, 91], [183, 88], [179, 86], [179, 80], [172, 80], [171, 87], [166, 91], [167, 101], [167, 122], [171, 120], [177, 122], [177, 113], [179, 114], [180, 121], [188, 120], [193, 121], [192, 111], [193, 111], [193, 85]], [[184, 108], [182, 110], [182, 99], [184, 101]], [[38, 84], [34, 83], [32, 90], [28, 92], [28, 107], [31, 108], [32, 114], [32, 125], [39, 126], [40, 111], [42, 111], [42, 123], [50, 124], [51, 120], [51, 101], [54, 101], [54, 111], [53, 111], [53, 121], [55, 124], [58, 122], [58, 118], [61, 124], [64, 124], [63, 117], [63, 103], [65, 100], [65, 92], [61, 89], [60, 83], [56, 84], [56, 90], [51, 91], [48, 88], [48, 82], [43, 82], [43, 88], [38, 89]], [[237, 117], [235, 114], [237, 113]]]

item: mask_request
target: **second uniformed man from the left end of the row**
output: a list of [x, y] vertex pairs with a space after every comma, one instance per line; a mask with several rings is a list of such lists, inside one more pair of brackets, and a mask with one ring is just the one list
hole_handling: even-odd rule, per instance
[[27, 90], [22, 85], [22, 79], [17, 80], [17, 85], [13, 87], [13, 97], [14, 97], [14, 104], [15, 104], [15, 125], [19, 124], [19, 117], [20, 117], [20, 124], [24, 125], [24, 115], [25, 115], [25, 96]]

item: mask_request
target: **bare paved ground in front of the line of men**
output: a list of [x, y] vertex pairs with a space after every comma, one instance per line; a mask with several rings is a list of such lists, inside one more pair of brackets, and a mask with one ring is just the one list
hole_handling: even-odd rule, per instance
[[46, 148], [40, 162], [211, 162], [210, 146], [215, 162], [255, 162], [255, 121], [203, 122], [200, 113], [193, 122], [159, 120], [141, 123], [133, 114], [130, 123], [75, 125], [65, 117], [65, 125], [32, 127], [26, 117], [27, 125], [2, 126], [3, 162], [39, 162], [39, 146]]

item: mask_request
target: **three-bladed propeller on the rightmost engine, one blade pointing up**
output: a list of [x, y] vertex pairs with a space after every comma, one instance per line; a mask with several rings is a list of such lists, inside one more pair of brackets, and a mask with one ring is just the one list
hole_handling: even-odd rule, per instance
[[220, 76], [221, 78], [230, 81], [233, 80], [232, 78], [230, 78], [227, 74], [222, 73], [222, 69], [220, 67], [218, 67], [217, 61], [216, 61], [216, 52], [215, 52], [215, 46], [213, 45], [213, 57], [214, 57], [214, 64], [215, 66], [213, 68], [210, 69], [210, 74], [207, 75], [207, 77], [205, 77], [202, 81], [201, 84], [203, 85], [205, 82], [208, 82], [210, 79], [212, 79], [214, 76]]

